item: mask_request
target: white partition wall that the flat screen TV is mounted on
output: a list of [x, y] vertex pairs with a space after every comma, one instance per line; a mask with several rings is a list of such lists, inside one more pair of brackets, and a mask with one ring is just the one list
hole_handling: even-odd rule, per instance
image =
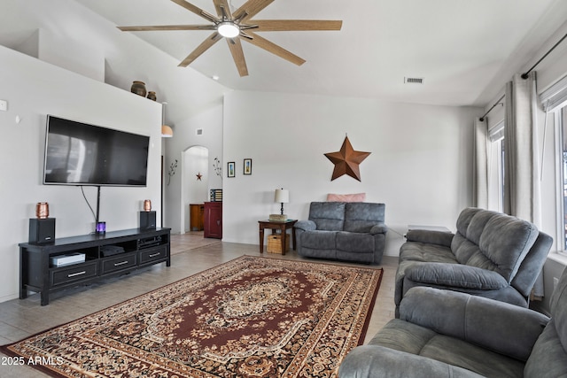
[[[151, 137], [148, 186], [101, 189], [100, 220], [112, 231], [137, 228], [137, 212], [144, 199], [151, 199], [153, 209], [161, 212], [161, 105], [2, 46], [0, 61], [0, 98], [9, 103], [8, 112], [0, 112], [0, 198], [5, 215], [0, 220], [1, 302], [18, 297], [18, 243], [27, 242], [28, 219], [35, 217], [37, 202], [50, 204], [56, 237], [94, 231], [94, 218], [81, 189], [42, 185], [46, 115]], [[96, 189], [85, 188], [85, 193], [94, 207]]]

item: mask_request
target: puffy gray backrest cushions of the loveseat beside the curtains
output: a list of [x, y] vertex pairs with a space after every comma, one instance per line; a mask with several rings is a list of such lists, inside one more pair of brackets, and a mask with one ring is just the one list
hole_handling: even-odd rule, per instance
[[469, 208], [457, 220], [451, 250], [459, 263], [493, 270], [510, 282], [538, 234], [525, 220]]

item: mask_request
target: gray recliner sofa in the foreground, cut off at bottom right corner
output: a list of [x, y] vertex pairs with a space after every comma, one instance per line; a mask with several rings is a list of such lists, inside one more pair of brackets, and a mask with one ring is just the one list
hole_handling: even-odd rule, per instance
[[413, 288], [367, 345], [350, 351], [340, 378], [567, 376], [567, 269], [551, 319], [517, 305], [456, 291]]

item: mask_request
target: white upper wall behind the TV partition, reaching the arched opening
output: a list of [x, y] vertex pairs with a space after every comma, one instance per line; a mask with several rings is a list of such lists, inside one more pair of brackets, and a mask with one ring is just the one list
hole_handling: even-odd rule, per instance
[[[212, 158], [221, 156], [222, 96], [228, 90], [221, 84], [191, 67], [178, 67], [177, 59], [73, 0], [3, 0], [2, 5], [0, 44], [127, 91], [132, 81], [144, 81], [159, 103], [167, 102], [165, 119], [175, 135], [162, 144], [165, 181], [167, 166], [191, 145], [205, 145]], [[196, 138], [195, 127], [206, 134]], [[163, 209], [163, 225], [177, 233], [184, 221], [179, 177], [172, 179], [175, 185], [164, 184]]]

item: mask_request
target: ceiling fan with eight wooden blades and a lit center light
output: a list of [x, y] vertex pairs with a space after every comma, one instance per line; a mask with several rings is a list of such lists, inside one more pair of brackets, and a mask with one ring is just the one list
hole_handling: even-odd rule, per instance
[[175, 4], [183, 6], [190, 12], [206, 19], [213, 24], [208, 25], [163, 25], [163, 26], [141, 26], [141, 27], [118, 27], [124, 32], [138, 31], [163, 31], [163, 30], [214, 30], [197, 49], [184, 58], [179, 64], [186, 67], [208, 50], [214, 43], [226, 38], [229, 50], [232, 54], [240, 76], [248, 75], [244, 51], [240, 41], [250, 42], [254, 46], [267, 50], [278, 57], [301, 66], [305, 60], [288, 50], [269, 42], [267, 39], [257, 35], [256, 32], [279, 32], [279, 31], [309, 31], [309, 30], [340, 30], [343, 21], [340, 20], [315, 20], [315, 19], [254, 19], [258, 12], [272, 4], [274, 0], [248, 0], [235, 12], [230, 11], [228, 0], [213, 0], [217, 16], [203, 11], [197, 6], [185, 0], [171, 0]]

